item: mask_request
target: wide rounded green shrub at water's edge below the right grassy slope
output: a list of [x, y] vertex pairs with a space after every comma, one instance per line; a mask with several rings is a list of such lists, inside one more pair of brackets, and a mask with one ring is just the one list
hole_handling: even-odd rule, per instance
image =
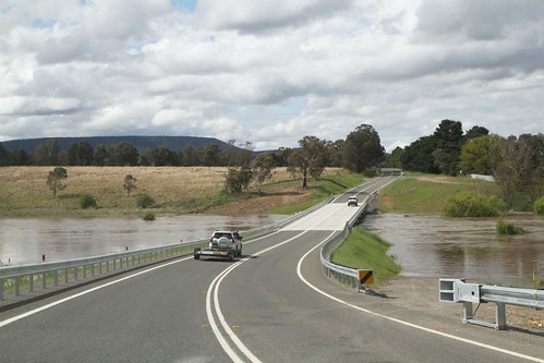
[[505, 203], [495, 195], [462, 192], [446, 199], [443, 213], [448, 217], [497, 217]]

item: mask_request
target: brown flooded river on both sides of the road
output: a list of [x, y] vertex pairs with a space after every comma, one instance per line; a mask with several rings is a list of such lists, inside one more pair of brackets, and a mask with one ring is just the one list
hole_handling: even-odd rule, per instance
[[[206, 239], [214, 229], [246, 230], [286, 216], [188, 215], [142, 219], [0, 219], [0, 261], [13, 265], [62, 261]], [[544, 278], [544, 218], [508, 218], [528, 234], [499, 237], [496, 219], [371, 215], [362, 227], [394, 243], [404, 275], [467, 278], [483, 283], [532, 287]]]

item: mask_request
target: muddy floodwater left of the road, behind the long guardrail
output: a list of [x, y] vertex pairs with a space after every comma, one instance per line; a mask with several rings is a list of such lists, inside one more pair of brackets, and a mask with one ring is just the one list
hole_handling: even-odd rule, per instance
[[0, 219], [0, 261], [24, 265], [99, 256], [207, 239], [215, 229], [247, 230], [286, 216], [184, 215], [136, 218]]

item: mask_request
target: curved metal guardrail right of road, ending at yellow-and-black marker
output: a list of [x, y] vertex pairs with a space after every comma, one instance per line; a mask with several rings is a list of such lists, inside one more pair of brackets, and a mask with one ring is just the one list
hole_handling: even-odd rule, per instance
[[372, 203], [374, 203], [374, 201], [377, 198], [377, 192], [367, 195], [366, 198], [364, 198], [364, 201], [361, 203], [355, 215], [346, 222], [346, 227], [343, 228], [343, 230], [340, 233], [335, 234], [329, 241], [325, 242], [325, 244], [321, 249], [321, 262], [325, 275], [337, 279], [343, 285], [356, 288], [358, 290], [362, 289], [361, 273], [365, 270], [335, 264], [330, 262], [330, 254], [348, 238], [351, 229], [353, 228], [353, 225], [359, 220], [361, 215], [368, 210], [368, 207], [372, 206]]

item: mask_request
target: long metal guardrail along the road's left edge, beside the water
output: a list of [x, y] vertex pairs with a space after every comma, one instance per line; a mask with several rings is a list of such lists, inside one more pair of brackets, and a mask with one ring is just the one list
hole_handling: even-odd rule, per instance
[[[240, 231], [244, 239], [256, 238], [279, 230], [283, 226], [301, 218], [323, 205], [330, 203], [331, 197], [322, 203], [294, 214], [285, 220], [273, 225], [258, 227], [245, 231]], [[76, 258], [69, 261], [49, 262], [40, 264], [0, 266], [0, 301], [4, 300], [7, 288], [13, 289], [14, 297], [21, 295], [21, 287], [27, 287], [28, 292], [36, 294], [35, 282], [41, 285], [41, 292], [49, 292], [48, 285], [56, 288], [63, 281], [64, 286], [72, 282], [83, 283], [88, 281], [87, 276], [106, 275], [112, 271], [129, 270], [131, 268], [142, 267], [146, 264], [157, 263], [159, 261], [171, 259], [193, 253], [193, 247], [207, 245], [208, 239], [180, 242], [159, 247], [143, 249], [131, 252], [108, 254], [102, 256]]]

